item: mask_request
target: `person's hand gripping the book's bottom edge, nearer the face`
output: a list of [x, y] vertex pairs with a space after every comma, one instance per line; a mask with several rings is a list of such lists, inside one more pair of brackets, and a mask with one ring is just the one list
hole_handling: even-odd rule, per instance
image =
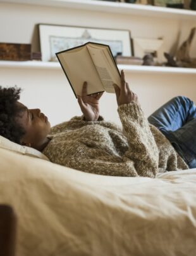
[[80, 95], [77, 95], [77, 97], [85, 120], [97, 121], [99, 118], [99, 99], [102, 97], [102, 94], [103, 92], [87, 95], [87, 82], [83, 83], [82, 97]]

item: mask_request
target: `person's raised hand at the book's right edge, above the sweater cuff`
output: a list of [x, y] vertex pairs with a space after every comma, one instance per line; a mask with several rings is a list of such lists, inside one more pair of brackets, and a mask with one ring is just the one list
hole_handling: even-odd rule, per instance
[[128, 83], [125, 81], [125, 73], [123, 70], [121, 71], [121, 88], [119, 88], [117, 84], [114, 84], [114, 90], [118, 105], [128, 104], [131, 102], [138, 103], [137, 95], [130, 90]]

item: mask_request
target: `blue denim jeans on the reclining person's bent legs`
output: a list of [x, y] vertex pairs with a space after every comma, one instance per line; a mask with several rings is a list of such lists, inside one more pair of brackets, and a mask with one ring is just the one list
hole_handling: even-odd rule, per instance
[[171, 142], [189, 168], [196, 168], [196, 107], [186, 97], [175, 97], [148, 118]]

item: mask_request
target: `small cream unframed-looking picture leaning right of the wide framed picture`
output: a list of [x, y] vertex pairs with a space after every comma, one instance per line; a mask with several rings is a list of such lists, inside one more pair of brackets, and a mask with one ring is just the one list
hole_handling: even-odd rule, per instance
[[154, 62], [164, 62], [164, 40], [162, 38], [148, 39], [134, 37], [132, 41], [135, 57], [144, 58], [145, 55], [151, 54]]

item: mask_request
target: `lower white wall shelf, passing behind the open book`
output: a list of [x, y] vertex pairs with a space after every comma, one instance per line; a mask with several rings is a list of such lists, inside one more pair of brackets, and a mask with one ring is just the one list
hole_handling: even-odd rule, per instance
[[[40, 62], [40, 61], [27, 61], [27, 62], [14, 62], [14, 61], [0, 61], [1, 68], [17, 68], [17, 69], [53, 69], [61, 70], [58, 62]], [[118, 69], [123, 69], [126, 72], [132, 73], [156, 73], [156, 74], [195, 74], [196, 68], [182, 68], [182, 67], [155, 67], [155, 66], [142, 66], [142, 65], [118, 65]]]

